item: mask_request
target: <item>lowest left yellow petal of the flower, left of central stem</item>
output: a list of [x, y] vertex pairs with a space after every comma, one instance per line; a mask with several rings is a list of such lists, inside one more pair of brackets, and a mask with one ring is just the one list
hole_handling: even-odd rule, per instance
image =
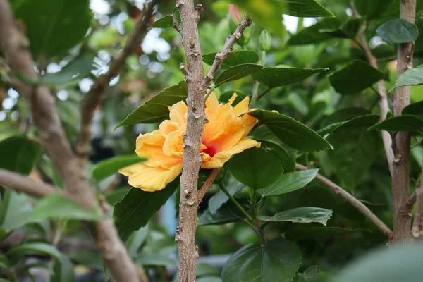
[[[162, 190], [168, 183], [171, 183], [182, 171], [183, 164], [178, 164], [170, 169], [152, 167], [145, 164], [137, 164], [137, 173], [129, 176], [129, 185], [146, 192]], [[131, 170], [132, 171], [132, 170]]]

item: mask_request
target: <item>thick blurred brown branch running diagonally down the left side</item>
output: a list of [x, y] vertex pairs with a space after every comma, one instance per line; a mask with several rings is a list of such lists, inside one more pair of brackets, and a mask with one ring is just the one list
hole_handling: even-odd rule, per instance
[[[27, 48], [29, 42], [23, 33], [23, 28], [19, 29], [14, 22], [11, 8], [6, 0], [0, 0], [0, 42], [3, 44], [4, 54], [11, 70], [29, 80], [37, 81], [34, 61]], [[26, 85], [16, 77], [12, 78], [12, 83], [30, 102], [34, 123], [39, 128], [39, 139], [63, 178], [67, 195], [91, 210], [96, 200], [87, 180], [87, 171], [79, 166], [78, 158], [73, 154], [71, 145], [66, 139], [49, 88]], [[116, 281], [140, 281], [135, 265], [111, 221], [97, 223], [96, 243]]]

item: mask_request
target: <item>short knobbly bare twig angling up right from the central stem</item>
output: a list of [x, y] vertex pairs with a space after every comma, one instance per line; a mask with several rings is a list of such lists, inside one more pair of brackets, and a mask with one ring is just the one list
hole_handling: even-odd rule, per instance
[[235, 32], [233, 32], [233, 35], [226, 38], [222, 51], [216, 53], [212, 67], [209, 69], [209, 72], [207, 73], [206, 77], [202, 81], [202, 87], [204, 90], [207, 90], [207, 87], [209, 87], [209, 84], [210, 82], [212, 82], [214, 75], [216, 75], [217, 71], [219, 71], [219, 68], [221, 67], [222, 62], [229, 55], [231, 55], [233, 45], [235, 44], [235, 42], [238, 41], [238, 39], [241, 38], [241, 35], [243, 35], [245, 27], [248, 27], [250, 25], [251, 25], [251, 19], [245, 16], [243, 20], [241, 21], [240, 25], [238, 25]]

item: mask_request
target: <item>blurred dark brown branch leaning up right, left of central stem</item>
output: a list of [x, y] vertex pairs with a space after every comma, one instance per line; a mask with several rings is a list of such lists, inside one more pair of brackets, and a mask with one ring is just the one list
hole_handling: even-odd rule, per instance
[[117, 58], [111, 62], [109, 71], [101, 75], [96, 84], [88, 92], [87, 97], [84, 100], [84, 104], [81, 109], [81, 122], [80, 122], [80, 133], [78, 135], [78, 142], [76, 145], [76, 151], [78, 156], [82, 160], [82, 165], [85, 166], [86, 159], [90, 153], [90, 141], [91, 141], [91, 121], [94, 116], [94, 111], [97, 106], [102, 102], [104, 98], [106, 88], [109, 87], [109, 82], [112, 78], [116, 77], [121, 71], [121, 68], [125, 65], [125, 60], [133, 50], [141, 44], [147, 30], [151, 25], [151, 18], [154, 11], [154, 6], [159, 0], [152, 0], [147, 6], [145, 6], [142, 19], [135, 25], [135, 29], [129, 35], [126, 41], [125, 47], [123, 47]]

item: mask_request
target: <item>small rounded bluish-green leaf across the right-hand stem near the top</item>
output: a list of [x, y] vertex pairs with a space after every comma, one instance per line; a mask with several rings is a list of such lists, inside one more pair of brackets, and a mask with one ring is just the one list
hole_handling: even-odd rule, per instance
[[402, 18], [386, 20], [377, 28], [376, 33], [385, 42], [394, 44], [412, 42], [419, 37], [417, 26]]

